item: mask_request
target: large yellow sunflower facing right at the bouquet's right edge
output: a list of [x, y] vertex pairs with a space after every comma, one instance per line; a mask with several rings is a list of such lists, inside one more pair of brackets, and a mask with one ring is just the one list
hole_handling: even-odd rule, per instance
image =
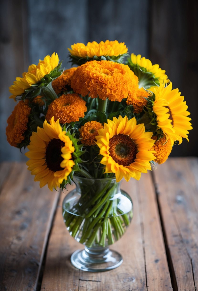
[[157, 127], [162, 130], [166, 139], [170, 138], [171, 144], [175, 141], [182, 142], [182, 138], [188, 140], [188, 130], [192, 129], [188, 117], [188, 106], [178, 89], [172, 90], [172, 83], [168, 86], [160, 84], [159, 87], [150, 89], [155, 95], [152, 110], [156, 115]]

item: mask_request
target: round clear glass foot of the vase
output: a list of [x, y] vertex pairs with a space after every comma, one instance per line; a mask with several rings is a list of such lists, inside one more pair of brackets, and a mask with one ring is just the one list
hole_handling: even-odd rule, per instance
[[92, 249], [85, 247], [71, 255], [74, 267], [88, 272], [105, 272], [117, 268], [123, 262], [122, 256], [109, 248]]

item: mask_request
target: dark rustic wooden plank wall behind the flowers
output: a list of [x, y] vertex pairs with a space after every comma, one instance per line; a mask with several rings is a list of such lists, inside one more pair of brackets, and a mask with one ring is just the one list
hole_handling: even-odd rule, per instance
[[0, 161], [25, 160], [6, 141], [7, 118], [15, 107], [8, 87], [29, 64], [54, 51], [69, 68], [67, 47], [96, 40], [125, 42], [165, 69], [191, 112], [190, 141], [172, 156], [197, 156], [198, 2], [179, 0], [1, 0]]

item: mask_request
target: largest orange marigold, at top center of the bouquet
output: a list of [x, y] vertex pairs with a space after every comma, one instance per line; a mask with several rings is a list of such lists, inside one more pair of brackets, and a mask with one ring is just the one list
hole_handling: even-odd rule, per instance
[[112, 61], [87, 62], [76, 69], [71, 79], [71, 88], [82, 96], [119, 102], [132, 95], [137, 86], [138, 77], [129, 66]]

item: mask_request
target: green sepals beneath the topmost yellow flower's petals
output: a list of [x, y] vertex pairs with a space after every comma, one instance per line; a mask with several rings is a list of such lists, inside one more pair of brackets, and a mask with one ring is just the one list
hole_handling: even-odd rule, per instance
[[73, 56], [69, 54], [70, 62], [72, 63], [72, 65], [78, 65], [78, 66], [90, 61], [112, 61], [112, 62], [122, 64], [126, 56], [129, 56], [129, 54], [127, 53], [120, 54], [118, 56], [93, 56], [93, 58], [90, 58], [88, 56], [85, 58], [81, 58], [79, 56]]

